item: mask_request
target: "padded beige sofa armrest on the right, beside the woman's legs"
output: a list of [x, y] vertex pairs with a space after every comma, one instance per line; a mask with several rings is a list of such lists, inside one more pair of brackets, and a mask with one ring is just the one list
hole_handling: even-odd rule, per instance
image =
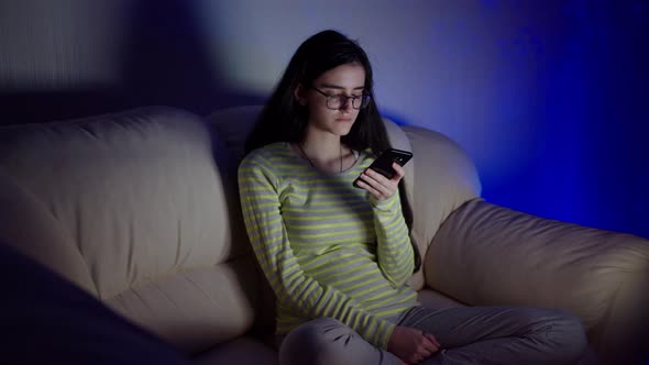
[[649, 308], [649, 241], [547, 220], [481, 199], [442, 224], [424, 263], [428, 286], [473, 306], [562, 308], [595, 347], [630, 335]]

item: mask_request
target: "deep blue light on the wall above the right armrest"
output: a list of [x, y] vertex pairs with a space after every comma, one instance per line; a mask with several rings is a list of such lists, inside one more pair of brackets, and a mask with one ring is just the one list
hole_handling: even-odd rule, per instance
[[[507, 180], [497, 178], [498, 164], [482, 166], [487, 200], [649, 236], [648, 10], [641, 1], [569, 1], [547, 20], [553, 32], [528, 29], [527, 42], [540, 36], [541, 48], [526, 106], [535, 141], [521, 145], [527, 159]], [[514, 58], [516, 47], [505, 43], [504, 52]], [[512, 82], [510, 70], [502, 76], [495, 85]], [[516, 107], [499, 107], [493, 118], [514, 123]]]

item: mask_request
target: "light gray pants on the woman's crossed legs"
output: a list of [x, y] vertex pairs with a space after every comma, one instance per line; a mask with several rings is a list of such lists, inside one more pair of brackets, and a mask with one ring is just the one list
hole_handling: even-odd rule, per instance
[[[431, 333], [441, 350], [432, 364], [574, 364], [586, 347], [581, 321], [560, 310], [509, 307], [416, 307], [399, 325]], [[393, 365], [403, 362], [342, 322], [322, 318], [293, 330], [279, 349], [282, 365]]]

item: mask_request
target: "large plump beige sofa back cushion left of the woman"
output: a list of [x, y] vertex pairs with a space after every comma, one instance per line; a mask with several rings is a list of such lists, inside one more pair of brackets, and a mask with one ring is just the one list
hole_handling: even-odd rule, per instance
[[182, 350], [205, 350], [254, 319], [230, 161], [201, 119], [169, 108], [0, 129], [1, 200], [21, 213], [0, 217], [2, 239]]

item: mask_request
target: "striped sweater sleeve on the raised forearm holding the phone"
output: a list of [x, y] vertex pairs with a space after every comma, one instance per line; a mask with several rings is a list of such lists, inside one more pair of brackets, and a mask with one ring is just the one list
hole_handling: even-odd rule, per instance
[[415, 268], [408, 226], [402, 213], [398, 192], [385, 200], [371, 196], [377, 239], [378, 267], [396, 288], [406, 283]]

